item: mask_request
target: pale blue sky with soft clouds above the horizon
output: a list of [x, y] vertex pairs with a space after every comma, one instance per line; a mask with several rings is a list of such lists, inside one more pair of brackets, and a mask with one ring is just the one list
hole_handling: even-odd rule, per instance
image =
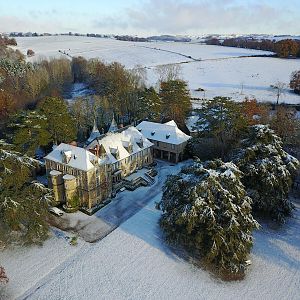
[[0, 0], [0, 31], [300, 35], [300, 0]]

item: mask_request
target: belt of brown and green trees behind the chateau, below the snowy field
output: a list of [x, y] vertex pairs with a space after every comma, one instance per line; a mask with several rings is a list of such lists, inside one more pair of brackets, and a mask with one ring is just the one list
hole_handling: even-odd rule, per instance
[[[160, 67], [159, 89], [146, 87], [147, 73], [143, 67], [127, 70], [119, 63], [105, 64], [98, 59], [73, 58], [72, 74], [75, 82], [85, 82], [95, 96], [74, 101], [71, 111], [80, 130], [88, 131], [96, 119], [105, 128], [112, 113], [123, 125], [140, 119], [163, 121], [174, 119], [184, 126], [191, 110], [186, 82], [179, 79], [176, 67]], [[92, 109], [92, 111], [91, 111]]]

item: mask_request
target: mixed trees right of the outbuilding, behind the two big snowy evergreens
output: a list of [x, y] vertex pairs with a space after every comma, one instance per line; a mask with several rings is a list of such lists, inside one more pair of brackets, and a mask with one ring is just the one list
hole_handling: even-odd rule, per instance
[[[190, 141], [192, 156], [202, 160], [220, 157], [223, 160], [235, 147], [252, 125], [268, 125], [281, 138], [284, 148], [298, 156], [300, 154], [300, 121], [296, 110], [284, 104], [275, 110], [255, 99], [236, 102], [227, 97], [215, 97], [202, 104], [194, 114], [199, 120], [194, 124], [196, 137]], [[205, 147], [200, 147], [200, 144]], [[197, 147], [195, 147], [197, 145]]]

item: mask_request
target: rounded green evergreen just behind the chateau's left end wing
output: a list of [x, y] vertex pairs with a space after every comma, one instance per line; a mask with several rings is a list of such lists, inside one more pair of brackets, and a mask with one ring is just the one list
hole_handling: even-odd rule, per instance
[[56, 97], [44, 99], [39, 105], [39, 112], [47, 118], [47, 129], [53, 143], [68, 143], [76, 139], [75, 121], [63, 99]]

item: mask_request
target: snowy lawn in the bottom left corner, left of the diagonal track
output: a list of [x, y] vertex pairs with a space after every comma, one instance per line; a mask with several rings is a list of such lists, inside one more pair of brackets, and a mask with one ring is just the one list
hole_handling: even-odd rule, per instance
[[0, 265], [5, 265], [9, 283], [4, 291], [0, 286], [0, 299], [15, 299], [41, 278], [51, 273], [63, 262], [86, 248], [82, 240], [78, 246], [70, 246], [66, 234], [52, 229], [51, 237], [43, 246], [7, 249], [0, 251]]

